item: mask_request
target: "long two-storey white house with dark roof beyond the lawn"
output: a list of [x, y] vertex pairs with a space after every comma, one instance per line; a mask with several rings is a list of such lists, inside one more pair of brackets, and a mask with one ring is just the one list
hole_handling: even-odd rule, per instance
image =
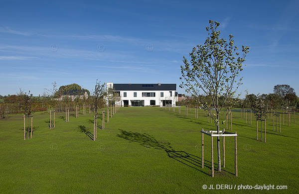
[[114, 88], [121, 96], [121, 106], [175, 106], [176, 84], [114, 84], [107, 83], [107, 89]]

